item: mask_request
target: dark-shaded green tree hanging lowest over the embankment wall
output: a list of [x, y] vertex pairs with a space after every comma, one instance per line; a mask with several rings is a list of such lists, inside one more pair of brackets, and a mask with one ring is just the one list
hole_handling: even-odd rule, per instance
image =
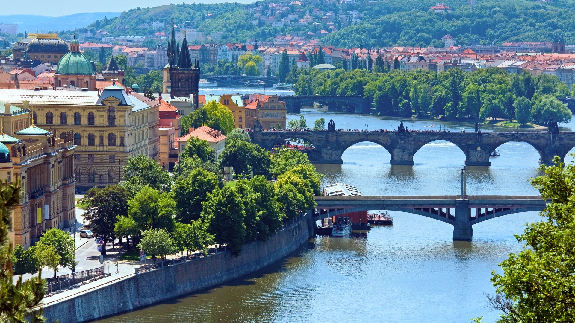
[[209, 223], [208, 231], [216, 243], [228, 244], [232, 255], [239, 256], [246, 242], [246, 225], [241, 197], [231, 187], [214, 190], [202, 203], [202, 218]]

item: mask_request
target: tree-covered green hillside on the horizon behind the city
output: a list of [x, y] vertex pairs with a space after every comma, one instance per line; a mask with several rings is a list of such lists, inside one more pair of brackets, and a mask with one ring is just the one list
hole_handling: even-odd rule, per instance
[[[181, 5], [165, 5], [131, 9], [124, 11], [120, 17], [97, 20], [88, 27], [103, 29], [112, 36], [143, 36], [153, 34], [158, 30], [138, 28], [152, 21], [164, 22], [168, 27], [173, 18], [175, 24], [181, 25], [190, 21], [191, 26], [206, 36], [214, 32], [223, 32], [220, 43], [243, 43], [247, 39], [261, 41], [273, 40], [277, 34], [305, 34], [321, 29], [328, 30], [327, 22], [316, 22], [307, 26], [265, 25], [259, 21], [252, 24], [254, 14], [250, 7], [264, 5], [255, 2], [251, 5], [240, 3], [191, 3]], [[427, 46], [442, 47], [440, 41], [445, 34], [450, 34], [458, 44], [467, 41], [480, 40], [481, 44], [501, 44], [505, 41], [546, 41], [551, 33], [562, 29], [568, 43], [575, 41], [575, 18], [571, 14], [571, 6], [567, 1], [553, 3], [536, 3], [530, 0], [488, 0], [480, 1], [471, 7], [465, 0], [446, 1], [451, 12], [435, 12], [430, 10], [436, 0], [398, 0], [398, 1], [357, 1], [344, 5], [320, 1], [316, 6], [292, 7], [292, 11], [301, 9], [303, 13], [311, 13], [316, 7], [323, 13], [333, 12], [333, 23], [338, 28], [322, 39], [322, 43], [336, 47], [389, 47]], [[363, 14], [363, 20], [355, 25], [346, 26], [351, 22], [342, 22], [339, 13], [358, 11]], [[206, 18], [211, 14], [212, 18]], [[287, 16], [282, 13], [279, 18]]]

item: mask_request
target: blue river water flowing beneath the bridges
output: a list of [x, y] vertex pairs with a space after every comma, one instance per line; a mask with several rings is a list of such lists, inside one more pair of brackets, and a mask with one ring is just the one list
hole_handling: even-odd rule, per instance
[[[227, 89], [211, 90], [227, 93]], [[323, 117], [326, 124], [333, 119], [337, 128], [344, 129], [397, 129], [400, 122], [314, 109], [303, 109], [302, 115], [308, 124]], [[436, 127], [424, 127], [431, 124]], [[410, 129], [439, 129], [439, 125], [473, 131], [472, 125], [463, 123], [406, 122]], [[574, 122], [561, 130], [572, 128]], [[467, 194], [538, 194], [528, 182], [540, 175], [535, 149], [526, 143], [507, 143], [498, 149], [501, 155], [492, 158], [491, 167], [467, 167]], [[384, 148], [359, 143], [343, 154], [342, 165], [316, 168], [325, 174], [324, 184], [350, 183], [364, 195], [459, 194], [465, 155], [454, 144], [425, 145], [413, 157], [414, 166], [391, 166], [389, 159]], [[521, 233], [526, 222], [538, 221], [538, 214], [481, 222], [473, 226], [473, 240], [463, 242], [451, 240], [453, 226], [444, 222], [390, 213], [393, 226], [374, 226], [364, 237], [315, 237], [287, 259], [252, 275], [99, 321], [455, 323], [482, 316], [484, 322], [493, 322], [498, 313], [486, 307], [484, 296], [494, 292], [491, 272], [508, 253], [521, 249], [513, 233]]]

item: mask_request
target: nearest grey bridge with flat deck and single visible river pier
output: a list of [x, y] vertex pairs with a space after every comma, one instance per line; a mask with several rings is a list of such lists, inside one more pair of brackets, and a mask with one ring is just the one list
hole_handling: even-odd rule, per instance
[[506, 214], [542, 211], [550, 201], [540, 196], [316, 196], [314, 220], [366, 210], [400, 211], [453, 225], [453, 240], [469, 241], [473, 225]]

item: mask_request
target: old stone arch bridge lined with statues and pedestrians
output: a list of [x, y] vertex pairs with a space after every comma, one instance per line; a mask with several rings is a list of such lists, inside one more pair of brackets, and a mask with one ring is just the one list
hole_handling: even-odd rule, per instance
[[[256, 129], [258, 130], [258, 129]], [[351, 145], [370, 141], [384, 147], [392, 165], [413, 165], [413, 155], [425, 144], [446, 140], [465, 153], [467, 166], [490, 166], [489, 155], [509, 141], [522, 141], [536, 149], [540, 163], [551, 165], [575, 147], [575, 132], [378, 132], [378, 131], [256, 131], [252, 141], [265, 149], [286, 139], [303, 139], [315, 149], [308, 152], [317, 163], [342, 164], [342, 154]]]

